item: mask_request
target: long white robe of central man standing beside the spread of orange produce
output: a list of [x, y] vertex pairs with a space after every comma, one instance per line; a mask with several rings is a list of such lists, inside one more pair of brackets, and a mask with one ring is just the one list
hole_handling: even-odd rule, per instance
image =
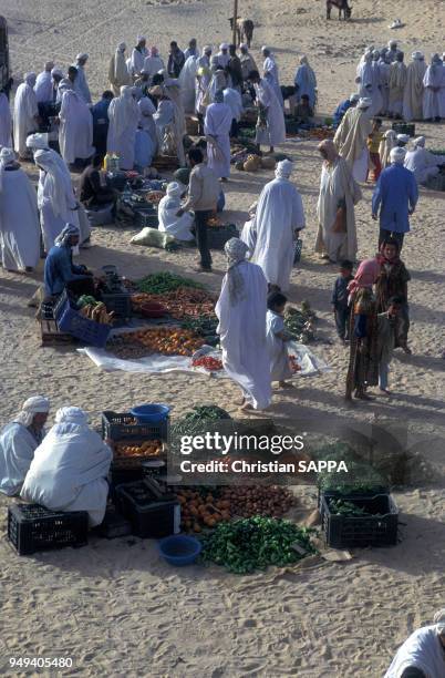
[[242, 276], [245, 297], [231, 304], [226, 275], [215, 308], [222, 364], [230, 379], [240, 386], [246, 401], [262, 410], [271, 401], [266, 341], [267, 281], [262, 270], [253, 264], [242, 261], [237, 269]]

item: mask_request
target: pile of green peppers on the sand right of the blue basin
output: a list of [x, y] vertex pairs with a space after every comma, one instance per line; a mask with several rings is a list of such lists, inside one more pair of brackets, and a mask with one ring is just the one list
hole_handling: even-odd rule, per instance
[[290, 521], [260, 516], [220, 522], [203, 535], [201, 557], [235, 574], [250, 574], [269, 565], [283, 567], [317, 553], [310, 542], [313, 532]]

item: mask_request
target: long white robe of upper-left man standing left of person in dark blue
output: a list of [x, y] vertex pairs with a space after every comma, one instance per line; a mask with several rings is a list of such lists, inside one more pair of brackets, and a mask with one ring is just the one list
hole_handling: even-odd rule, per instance
[[63, 92], [59, 117], [60, 152], [65, 163], [70, 165], [76, 158], [91, 157], [94, 154], [93, 116], [73, 90]]

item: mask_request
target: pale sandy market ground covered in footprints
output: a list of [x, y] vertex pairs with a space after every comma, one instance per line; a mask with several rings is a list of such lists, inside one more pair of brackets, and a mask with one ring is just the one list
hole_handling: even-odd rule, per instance
[[[230, 4], [227, 0], [82, 4], [3, 0], [1, 11], [11, 24], [17, 75], [41, 70], [49, 58], [65, 66], [76, 52], [87, 51], [87, 75], [99, 95], [107, 84], [108, 58], [121, 40], [131, 45], [143, 32], [164, 54], [174, 38], [182, 45], [193, 35], [200, 45], [219, 43], [229, 38]], [[319, 112], [331, 114], [354, 90], [355, 64], [363, 48], [382, 45], [392, 38], [387, 25], [394, 18], [402, 17], [406, 23], [397, 32], [405, 53], [414, 48], [426, 54], [442, 52], [443, 6], [439, 0], [355, 0], [351, 23], [339, 23], [337, 18], [327, 23], [322, 1], [240, 2], [240, 12], [258, 27], [255, 56], [261, 44], [270, 44], [283, 83], [291, 82], [298, 56], [309, 55], [319, 80]], [[443, 125], [418, 129], [432, 146], [444, 147]], [[166, 568], [149, 542], [131, 545], [127, 540], [92, 540], [80, 551], [19, 558], [2, 538], [1, 656], [71, 656], [75, 669], [70, 675], [82, 676], [377, 678], [401, 641], [442, 606], [445, 483], [439, 468], [445, 402], [439, 352], [445, 318], [445, 194], [422, 191], [403, 253], [413, 277], [413, 356], [396, 356], [391, 400], [377, 397], [373, 403], [346, 408], [342, 399], [346, 355], [333, 342], [329, 310], [335, 270], [312, 254], [320, 161], [314, 143], [289, 142], [286, 150], [297, 162], [294, 182], [308, 218], [303, 259], [293, 270], [290, 298], [296, 302], [309, 299], [320, 316], [324, 341], [315, 350], [333, 371], [302, 382], [297, 391], [277, 393], [271, 412], [277, 420], [310, 417], [332, 425], [394, 419], [408, 425], [417, 452], [436, 473], [433, 481], [421, 476], [396, 493], [403, 523], [401, 544], [356, 552], [348, 564], [287, 574], [270, 571], [266, 576], [244, 578], [217, 568]], [[267, 172], [234, 175], [227, 187], [230, 220], [242, 223], [248, 205], [270, 177]], [[370, 199], [371, 188], [365, 187], [356, 214], [361, 258], [373, 255], [376, 246]], [[190, 275], [193, 253], [173, 255], [131, 247], [131, 235], [95, 229], [94, 246], [82, 254], [82, 261], [94, 268], [113, 263], [134, 278], [161, 269]], [[218, 290], [222, 274], [224, 259], [216, 254], [215, 271], [203, 280]], [[225, 380], [104, 373], [73, 350], [40, 348], [33, 311], [27, 308], [40, 280], [41, 274], [1, 274], [2, 422], [35, 392], [51, 398], [52, 412], [69, 402], [83, 407], [94, 424], [104, 409], [125, 411], [151, 400], [172, 403], [175, 417], [192, 402], [216, 402], [236, 412], [237, 390]], [[303, 506], [315, 506], [313, 486], [299, 490], [299, 495]], [[8, 502], [3, 499], [0, 504], [4, 535]], [[7, 667], [3, 671], [9, 672]]]

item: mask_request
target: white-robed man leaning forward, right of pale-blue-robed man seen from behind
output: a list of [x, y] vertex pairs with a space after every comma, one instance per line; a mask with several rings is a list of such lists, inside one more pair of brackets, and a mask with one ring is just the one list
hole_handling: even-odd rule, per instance
[[250, 82], [255, 85], [257, 105], [259, 111], [259, 122], [255, 141], [258, 147], [261, 145], [270, 146], [273, 153], [275, 146], [286, 142], [284, 111], [277, 99], [270, 75], [260, 78], [258, 71], [250, 73]]

